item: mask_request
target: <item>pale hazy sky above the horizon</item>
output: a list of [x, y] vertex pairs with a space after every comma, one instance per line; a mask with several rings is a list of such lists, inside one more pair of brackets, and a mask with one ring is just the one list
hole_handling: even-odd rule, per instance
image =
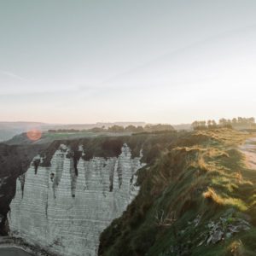
[[1, 0], [0, 120], [255, 116], [256, 1]]

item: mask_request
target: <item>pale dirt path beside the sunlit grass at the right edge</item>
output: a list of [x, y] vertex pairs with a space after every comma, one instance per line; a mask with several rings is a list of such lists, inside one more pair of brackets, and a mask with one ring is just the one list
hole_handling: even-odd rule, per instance
[[245, 155], [247, 168], [256, 170], [256, 137], [247, 139], [240, 150]]

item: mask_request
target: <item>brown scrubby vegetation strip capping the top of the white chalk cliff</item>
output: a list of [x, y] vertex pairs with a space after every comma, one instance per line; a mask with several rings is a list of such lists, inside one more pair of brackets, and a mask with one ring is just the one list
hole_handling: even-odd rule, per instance
[[50, 160], [55, 154], [56, 149], [61, 144], [67, 145], [72, 149], [74, 155], [77, 154], [79, 145], [84, 148], [84, 160], [90, 160], [93, 157], [114, 157], [121, 153], [121, 148], [126, 143], [132, 152], [132, 156], [139, 156], [141, 149], [143, 149], [143, 161], [152, 162], [154, 158], [160, 154], [161, 150], [166, 148], [168, 143], [173, 142], [177, 137], [181, 137], [183, 132], [176, 131], [161, 131], [152, 133], [138, 133], [131, 136], [119, 137], [85, 137], [73, 140], [56, 140], [51, 143], [48, 148], [42, 151], [41, 155], [44, 157], [42, 166], [49, 166]]

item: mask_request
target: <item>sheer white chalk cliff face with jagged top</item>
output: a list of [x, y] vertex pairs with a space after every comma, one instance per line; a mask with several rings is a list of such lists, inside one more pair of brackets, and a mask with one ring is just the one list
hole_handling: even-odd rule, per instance
[[76, 176], [68, 154], [69, 149], [61, 145], [49, 167], [36, 170], [31, 164], [17, 179], [10, 231], [49, 253], [94, 256], [102, 231], [137, 195], [135, 173], [143, 164], [141, 157], [131, 157], [124, 144], [118, 157], [81, 158]]

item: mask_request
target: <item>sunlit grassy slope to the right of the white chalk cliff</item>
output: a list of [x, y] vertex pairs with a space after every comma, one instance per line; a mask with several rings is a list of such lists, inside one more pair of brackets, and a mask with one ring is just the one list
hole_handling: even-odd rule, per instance
[[[196, 131], [162, 149], [139, 171], [135, 201], [102, 233], [99, 255], [256, 255], [256, 172], [237, 149], [247, 137]], [[208, 225], [221, 218], [224, 232], [237, 218], [250, 230], [208, 244]]]

